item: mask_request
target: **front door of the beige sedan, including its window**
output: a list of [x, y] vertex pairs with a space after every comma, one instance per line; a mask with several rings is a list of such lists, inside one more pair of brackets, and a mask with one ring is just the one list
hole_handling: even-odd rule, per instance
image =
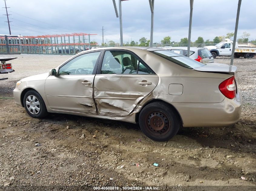
[[93, 80], [101, 51], [84, 53], [64, 63], [57, 76], [45, 81], [45, 94], [53, 111], [94, 113]]

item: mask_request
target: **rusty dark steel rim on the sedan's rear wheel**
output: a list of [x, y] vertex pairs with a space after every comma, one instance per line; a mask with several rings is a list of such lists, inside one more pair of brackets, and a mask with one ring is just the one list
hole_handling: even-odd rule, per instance
[[166, 135], [171, 129], [169, 117], [162, 111], [149, 111], [145, 116], [145, 127], [149, 133], [155, 136]]

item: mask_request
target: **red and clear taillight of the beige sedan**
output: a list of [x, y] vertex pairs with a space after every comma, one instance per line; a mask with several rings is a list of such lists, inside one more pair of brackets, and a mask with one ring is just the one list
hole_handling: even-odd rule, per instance
[[219, 85], [219, 90], [228, 99], [233, 99], [236, 94], [235, 77], [232, 76], [221, 82], [221, 84]]

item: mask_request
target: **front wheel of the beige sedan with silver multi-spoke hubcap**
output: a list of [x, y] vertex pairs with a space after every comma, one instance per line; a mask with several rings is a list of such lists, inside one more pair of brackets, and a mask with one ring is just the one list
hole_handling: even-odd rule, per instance
[[35, 90], [29, 90], [25, 93], [23, 104], [26, 112], [31, 117], [43, 118], [48, 114], [43, 98]]

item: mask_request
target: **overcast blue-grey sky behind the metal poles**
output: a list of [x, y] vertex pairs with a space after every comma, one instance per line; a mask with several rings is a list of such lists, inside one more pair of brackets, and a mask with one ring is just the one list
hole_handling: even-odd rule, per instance
[[[65, 33], [97, 33], [91, 37], [119, 42], [119, 18], [112, 0], [7, 0], [12, 34], [43, 35]], [[0, 2], [5, 7], [4, 1]], [[116, 0], [118, 6], [118, 0]], [[216, 36], [233, 32], [238, 0], [194, 0], [191, 40], [198, 36], [213, 40]], [[238, 24], [238, 38], [243, 31], [256, 39], [256, 1], [242, 0]], [[171, 41], [188, 37], [189, 0], [155, 0], [154, 42], [171, 36]], [[5, 13], [5, 8], [0, 9]], [[150, 38], [151, 11], [148, 0], [122, 2], [124, 42], [135, 42], [140, 37]], [[34, 20], [33, 20], [34, 19]], [[37, 21], [36, 21], [37, 20]], [[5, 15], [0, 16], [0, 33], [9, 34]]]

